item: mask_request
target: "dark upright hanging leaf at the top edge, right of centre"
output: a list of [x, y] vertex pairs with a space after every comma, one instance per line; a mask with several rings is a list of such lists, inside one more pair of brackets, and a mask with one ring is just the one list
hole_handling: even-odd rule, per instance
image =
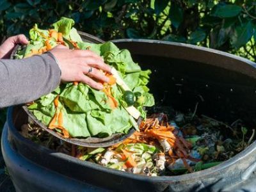
[[169, 11], [169, 18], [171, 19], [172, 25], [175, 28], [179, 28], [180, 23], [183, 20], [183, 10], [177, 3], [172, 3]]

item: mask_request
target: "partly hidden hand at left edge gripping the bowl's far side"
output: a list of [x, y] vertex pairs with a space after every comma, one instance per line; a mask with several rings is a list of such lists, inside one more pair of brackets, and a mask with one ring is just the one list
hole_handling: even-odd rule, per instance
[[16, 35], [9, 37], [1, 46], [0, 46], [0, 59], [9, 59], [10, 55], [17, 44], [26, 45], [28, 40], [25, 35]]

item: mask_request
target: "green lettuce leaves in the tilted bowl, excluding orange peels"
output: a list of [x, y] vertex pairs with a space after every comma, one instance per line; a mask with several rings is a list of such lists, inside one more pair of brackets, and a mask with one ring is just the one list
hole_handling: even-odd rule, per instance
[[[134, 105], [146, 117], [145, 106], [154, 105], [154, 97], [149, 93], [147, 83], [150, 70], [141, 70], [138, 63], [132, 60], [127, 49], [118, 49], [115, 44], [106, 42], [104, 44], [90, 44], [83, 42], [77, 30], [73, 28], [74, 20], [62, 17], [61, 20], [52, 24], [59, 33], [63, 33], [65, 43], [72, 49], [72, 42], [76, 42], [79, 49], [91, 51], [99, 54], [105, 63], [115, 67], [124, 79], [125, 83], [133, 92], [140, 92], [144, 102], [140, 106]], [[35, 25], [29, 31], [29, 45], [18, 52], [23, 58], [31, 54], [31, 50], [39, 50], [45, 46], [45, 40], [49, 40], [52, 47], [57, 45], [56, 40], [45, 38], [49, 36], [48, 30], [38, 29]], [[108, 103], [108, 96], [98, 90], [94, 90], [87, 84], [73, 83], [61, 84], [54, 92], [44, 95], [34, 104], [29, 106], [29, 110], [45, 125], [49, 125], [52, 117], [56, 113], [63, 114], [63, 127], [67, 129], [70, 136], [74, 138], [86, 138], [89, 136], [103, 138], [115, 133], [127, 133], [131, 127], [136, 127], [136, 121], [125, 110], [123, 90], [114, 84], [111, 86], [111, 95], [118, 102], [118, 107], [111, 109]], [[58, 99], [58, 107], [54, 106], [54, 99]]]

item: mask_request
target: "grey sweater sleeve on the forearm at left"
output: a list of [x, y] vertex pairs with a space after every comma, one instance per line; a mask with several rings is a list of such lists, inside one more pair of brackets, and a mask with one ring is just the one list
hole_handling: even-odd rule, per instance
[[22, 104], [52, 92], [60, 84], [60, 67], [49, 55], [0, 60], [0, 108]]

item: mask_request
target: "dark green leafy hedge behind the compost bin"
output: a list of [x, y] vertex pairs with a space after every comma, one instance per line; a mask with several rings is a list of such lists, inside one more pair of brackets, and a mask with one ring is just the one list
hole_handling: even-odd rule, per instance
[[[147, 38], [202, 45], [256, 60], [255, 0], [0, 0], [0, 42], [61, 16], [103, 40]], [[5, 113], [0, 111], [0, 127]]]

